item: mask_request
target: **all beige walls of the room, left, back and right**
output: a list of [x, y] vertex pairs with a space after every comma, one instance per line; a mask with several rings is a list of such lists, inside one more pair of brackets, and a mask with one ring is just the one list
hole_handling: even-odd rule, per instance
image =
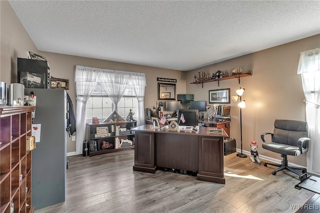
[[[0, 11], [0, 80], [7, 84], [16, 82], [16, 58], [25, 57], [26, 51], [32, 51], [47, 58], [53, 77], [69, 79], [70, 89], [67, 92], [75, 107], [73, 80], [75, 65], [144, 72], [147, 81], [144, 107], [157, 105], [156, 77], [175, 78], [177, 79], [176, 93], [193, 93], [195, 100], [207, 102], [210, 89], [230, 88], [231, 95], [234, 95], [235, 90], [241, 86], [245, 88], [243, 99], [247, 105], [242, 110], [243, 149], [249, 151], [249, 142], [256, 140], [260, 155], [277, 159], [280, 159], [279, 154], [271, 153], [261, 147], [260, 134], [272, 131], [273, 121], [276, 118], [305, 119], [301, 79], [300, 75], [296, 74], [299, 52], [319, 47], [320, 35], [183, 72], [38, 51], [7, 1], [0, 1]], [[240, 84], [237, 79], [220, 81], [220, 86], [216, 82], [204, 83], [203, 88], [200, 84], [190, 84], [198, 70], [212, 74], [219, 69], [230, 71], [238, 65], [242, 66], [244, 72], [253, 71], [252, 76], [241, 78]], [[232, 100], [229, 105], [232, 106], [230, 136], [236, 139], [240, 147], [239, 108]], [[210, 112], [210, 110], [207, 111], [205, 116]], [[67, 141], [67, 151], [75, 151], [75, 142], [70, 138]], [[289, 157], [289, 160], [299, 165], [306, 164], [305, 155]]]

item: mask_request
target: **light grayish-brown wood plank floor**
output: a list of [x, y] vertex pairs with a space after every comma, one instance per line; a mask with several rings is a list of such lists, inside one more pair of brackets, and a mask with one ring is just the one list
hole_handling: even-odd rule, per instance
[[225, 184], [158, 170], [133, 171], [134, 150], [67, 157], [65, 202], [39, 212], [294, 212], [314, 193], [296, 175], [224, 156]]

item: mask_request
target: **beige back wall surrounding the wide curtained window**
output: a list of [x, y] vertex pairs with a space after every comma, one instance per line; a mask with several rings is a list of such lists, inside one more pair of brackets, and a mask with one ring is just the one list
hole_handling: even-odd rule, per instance
[[[124, 71], [134, 71], [134, 72], [144, 72], [146, 78], [146, 88], [144, 95], [144, 108], [157, 106], [157, 81], [156, 77], [168, 77], [177, 79], [176, 91], [177, 93], [185, 93], [185, 72], [172, 70], [172, 69], [162, 69], [150, 66], [141, 66], [128, 63], [99, 60], [93, 58], [85, 58], [71, 55], [63, 55], [52, 52], [39, 51], [39, 54], [46, 57], [50, 64], [50, 74], [53, 77], [69, 79], [69, 89], [67, 93], [69, 94], [73, 106], [76, 107], [76, 91], [74, 82], [74, 70], [75, 65], [91, 66], [98, 68], [107, 69], [117, 69]], [[73, 133], [73, 135], [75, 135]], [[68, 138], [67, 142], [67, 152], [75, 151], [75, 141], [71, 141]]]

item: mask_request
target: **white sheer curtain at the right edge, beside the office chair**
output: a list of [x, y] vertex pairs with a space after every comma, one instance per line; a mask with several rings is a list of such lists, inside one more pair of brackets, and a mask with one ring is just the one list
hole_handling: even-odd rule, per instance
[[308, 172], [320, 174], [320, 48], [300, 52], [298, 74], [301, 74], [308, 123]]

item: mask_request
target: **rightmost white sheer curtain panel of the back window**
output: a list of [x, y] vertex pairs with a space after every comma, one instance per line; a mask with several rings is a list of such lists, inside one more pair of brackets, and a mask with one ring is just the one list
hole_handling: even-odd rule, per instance
[[131, 85], [138, 100], [138, 119], [136, 125], [144, 124], [144, 89], [146, 86], [144, 73], [134, 73], [131, 77]]

